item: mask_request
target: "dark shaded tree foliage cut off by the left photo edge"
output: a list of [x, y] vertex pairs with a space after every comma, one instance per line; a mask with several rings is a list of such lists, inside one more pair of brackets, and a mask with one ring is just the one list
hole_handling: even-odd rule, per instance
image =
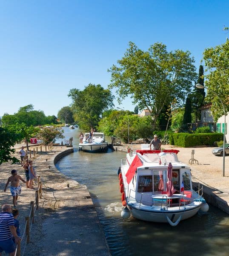
[[12, 157], [15, 153], [14, 145], [21, 140], [20, 134], [10, 132], [7, 128], [0, 127], [0, 165], [12, 161], [20, 163], [16, 157]]

